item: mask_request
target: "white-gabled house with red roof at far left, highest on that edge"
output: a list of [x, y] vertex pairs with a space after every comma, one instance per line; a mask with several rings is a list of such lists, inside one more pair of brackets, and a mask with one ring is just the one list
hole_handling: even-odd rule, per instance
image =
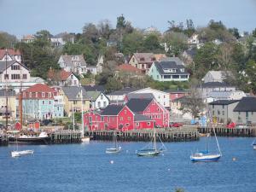
[[21, 62], [21, 54], [19, 49], [0, 49], [0, 61], [14, 60]]

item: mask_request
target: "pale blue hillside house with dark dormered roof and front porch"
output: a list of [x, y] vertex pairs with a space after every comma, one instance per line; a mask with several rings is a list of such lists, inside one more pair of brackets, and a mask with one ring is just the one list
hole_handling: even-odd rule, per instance
[[148, 75], [156, 81], [188, 81], [189, 73], [177, 61], [154, 61]]

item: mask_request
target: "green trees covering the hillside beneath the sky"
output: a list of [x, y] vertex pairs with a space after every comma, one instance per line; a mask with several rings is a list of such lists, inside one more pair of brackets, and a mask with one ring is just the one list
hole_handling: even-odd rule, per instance
[[[75, 34], [74, 44], [67, 43], [62, 48], [50, 44], [52, 34], [45, 30], [37, 32], [34, 35], [35, 41], [29, 44], [20, 43], [15, 36], [2, 32], [0, 47], [20, 49], [23, 61], [32, 70], [32, 75], [44, 79], [49, 67], [59, 67], [57, 61], [61, 54], [82, 54], [90, 65], [96, 65], [99, 55], [103, 55], [104, 70], [96, 77], [96, 83], [107, 85], [108, 90], [117, 90], [126, 85], [143, 87], [148, 84], [162, 90], [172, 88], [173, 84], [183, 87], [187, 85], [160, 84], [147, 77], [127, 82], [129, 78], [116, 77], [113, 68], [135, 52], [162, 53], [182, 58], [183, 51], [191, 49], [188, 39], [196, 33], [201, 49], [195, 49], [194, 60], [189, 62], [192, 78], [201, 80], [209, 70], [231, 71], [233, 75], [226, 79], [227, 82], [236, 84], [241, 90], [256, 92], [256, 29], [246, 32], [242, 38], [237, 28], [227, 28], [221, 21], [210, 20], [202, 28], [195, 28], [192, 20], [186, 20], [184, 24], [172, 20], [167, 24], [164, 33], [157, 30], [144, 31], [135, 28], [130, 21], [125, 20], [124, 15], [120, 15], [114, 26], [108, 20], [85, 24], [83, 31]], [[117, 58], [116, 53], [123, 53], [125, 57]]]

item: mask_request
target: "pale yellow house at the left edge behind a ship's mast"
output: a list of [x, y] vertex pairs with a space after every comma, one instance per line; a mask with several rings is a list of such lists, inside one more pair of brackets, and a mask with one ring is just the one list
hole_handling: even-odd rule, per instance
[[[6, 94], [7, 93], [7, 94]], [[6, 104], [6, 97], [8, 97], [8, 102]], [[16, 96], [15, 90], [0, 90], [0, 121], [5, 121], [6, 116], [6, 106], [8, 108], [8, 116], [10, 121], [16, 119]]]

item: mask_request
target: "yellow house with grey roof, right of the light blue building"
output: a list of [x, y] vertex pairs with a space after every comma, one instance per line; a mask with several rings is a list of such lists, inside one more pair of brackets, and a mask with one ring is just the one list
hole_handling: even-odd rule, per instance
[[90, 98], [86, 95], [83, 87], [68, 86], [62, 87], [60, 95], [64, 100], [65, 116], [72, 116], [73, 112], [81, 112], [82, 109], [82, 93], [83, 93], [83, 109], [84, 112], [90, 109]]

